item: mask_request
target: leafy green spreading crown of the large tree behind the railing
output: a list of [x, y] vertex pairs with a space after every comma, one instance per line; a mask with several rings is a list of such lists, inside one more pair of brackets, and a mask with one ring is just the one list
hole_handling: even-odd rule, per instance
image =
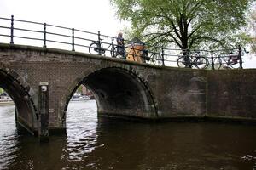
[[236, 45], [251, 0], [110, 0], [131, 35], [181, 49]]

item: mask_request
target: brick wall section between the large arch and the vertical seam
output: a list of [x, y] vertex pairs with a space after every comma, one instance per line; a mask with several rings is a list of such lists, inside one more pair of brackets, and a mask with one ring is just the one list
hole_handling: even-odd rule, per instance
[[205, 116], [206, 71], [166, 67], [159, 72], [153, 87], [159, 118]]

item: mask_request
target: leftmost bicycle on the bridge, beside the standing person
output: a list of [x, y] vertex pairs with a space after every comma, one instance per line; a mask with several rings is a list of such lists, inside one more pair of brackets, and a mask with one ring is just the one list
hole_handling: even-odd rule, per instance
[[90, 54], [105, 54], [106, 51], [109, 51], [108, 48], [110, 48], [110, 55], [111, 57], [116, 57], [116, 50], [117, 46], [113, 44], [114, 38], [111, 38], [111, 43], [109, 43], [108, 48], [103, 48], [103, 39], [99, 39], [98, 41], [93, 41], [89, 46], [89, 53]]

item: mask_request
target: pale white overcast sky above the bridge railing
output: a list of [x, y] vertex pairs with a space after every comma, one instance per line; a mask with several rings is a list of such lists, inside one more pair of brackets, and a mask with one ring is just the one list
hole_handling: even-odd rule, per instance
[[[10, 18], [12, 14], [16, 20], [101, 31], [112, 37], [128, 26], [117, 19], [109, 0], [0, 0], [0, 17]], [[256, 68], [256, 57], [251, 56], [244, 57], [244, 68]]]

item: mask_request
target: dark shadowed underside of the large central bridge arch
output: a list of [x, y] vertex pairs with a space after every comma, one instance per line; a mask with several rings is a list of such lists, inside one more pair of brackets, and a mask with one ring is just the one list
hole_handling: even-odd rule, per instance
[[69, 100], [81, 84], [94, 95], [99, 116], [158, 118], [154, 96], [147, 83], [132, 71], [108, 67], [90, 73], [73, 88], [64, 109], [63, 123]]

